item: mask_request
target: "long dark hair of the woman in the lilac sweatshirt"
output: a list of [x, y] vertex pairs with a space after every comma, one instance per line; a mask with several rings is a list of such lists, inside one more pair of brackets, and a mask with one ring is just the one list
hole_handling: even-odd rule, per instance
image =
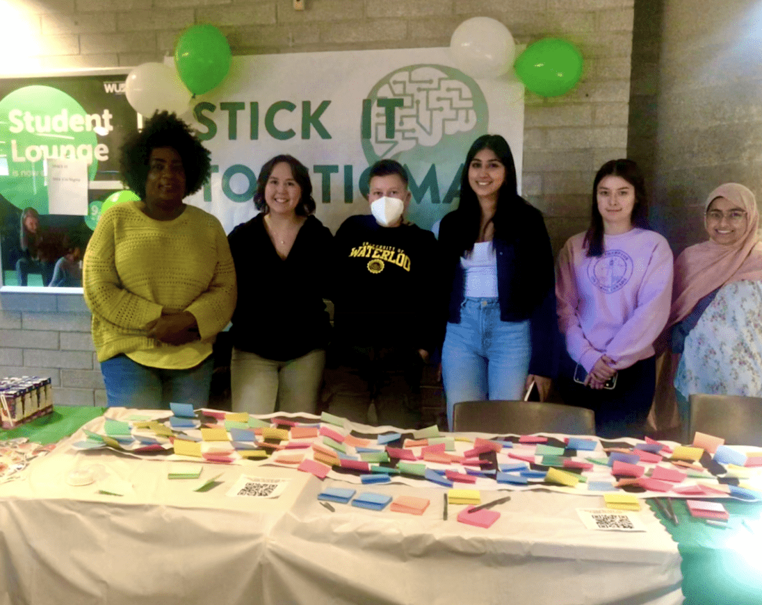
[[640, 167], [632, 160], [609, 160], [600, 167], [593, 180], [593, 203], [591, 205], [590, 227], [584, 234], [584, 246], [588, 256], [602, 256], [604, 253], [604, 217], [598, 210], [598, 185], [605, 177], [621, 177], [635, 189], [635, 204], [632, 205], [630, 222], [633, 227], [650, 229], [648, 224], [648, 196], [645, 194], [645, 180]]

